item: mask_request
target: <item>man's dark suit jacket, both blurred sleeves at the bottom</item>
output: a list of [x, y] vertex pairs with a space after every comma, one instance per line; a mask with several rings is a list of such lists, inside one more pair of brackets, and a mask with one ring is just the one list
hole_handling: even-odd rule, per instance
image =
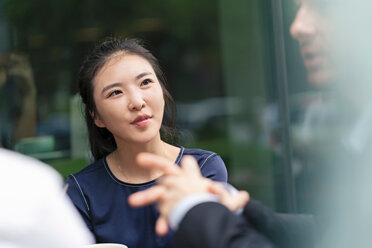
[[314, 220], [309, 215], [277, 214], [251, 199], [237, 215], [216, 202], [193, 207], [175, 234], [177, 248], [312, 247]]

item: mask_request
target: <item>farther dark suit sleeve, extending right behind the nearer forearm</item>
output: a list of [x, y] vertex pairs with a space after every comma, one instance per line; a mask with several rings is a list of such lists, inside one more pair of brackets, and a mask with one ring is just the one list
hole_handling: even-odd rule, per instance
[[243, 216], [278, 247], [315, 246], [315, 221], [312, 215], [278, 214], [251, 199], [244, 208]]

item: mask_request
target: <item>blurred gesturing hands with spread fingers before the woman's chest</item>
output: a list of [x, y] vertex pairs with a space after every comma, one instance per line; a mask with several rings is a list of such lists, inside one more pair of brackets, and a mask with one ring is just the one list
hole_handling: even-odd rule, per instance
[[128, 199], [133, 207], [158, 203], [160, 217], [155, 228], [160, 236], [168, 232], [169, 214], [184, 197], [198, 193], [213, 193], [219, 196], [222, 204], [233, 211], [244, 206], [249, 200], [247, 192], [241, 191], [231, 195], [222, 184], [202, 177], [197, 162], [191, 156], [182, 159], [181, 167], [163, 157], [149, 153], [140, 154], [137, 163], [164, 173], [156, 186], [134, 193]]

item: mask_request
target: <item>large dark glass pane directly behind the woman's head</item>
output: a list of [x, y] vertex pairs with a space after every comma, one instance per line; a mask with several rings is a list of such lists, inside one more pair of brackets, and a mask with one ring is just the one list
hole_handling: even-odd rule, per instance
[[217, 1], [1, 4], [4, 147], [39, 158], [63, 176], [87, 165], [76, 75], [97, 41], [119, 36], [143, 39], [163, 66], [179, 109], [180, 144], [228, 159], [228, 114], [215, 108], [225, 105]]

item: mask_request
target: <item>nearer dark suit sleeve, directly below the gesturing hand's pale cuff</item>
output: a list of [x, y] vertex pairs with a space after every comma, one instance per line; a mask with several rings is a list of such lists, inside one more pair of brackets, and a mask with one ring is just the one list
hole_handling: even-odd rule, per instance
[[273, 248], [243, 216], [216, 202], [193, 207], [181, 221], [173, 243], [177, 248]]

